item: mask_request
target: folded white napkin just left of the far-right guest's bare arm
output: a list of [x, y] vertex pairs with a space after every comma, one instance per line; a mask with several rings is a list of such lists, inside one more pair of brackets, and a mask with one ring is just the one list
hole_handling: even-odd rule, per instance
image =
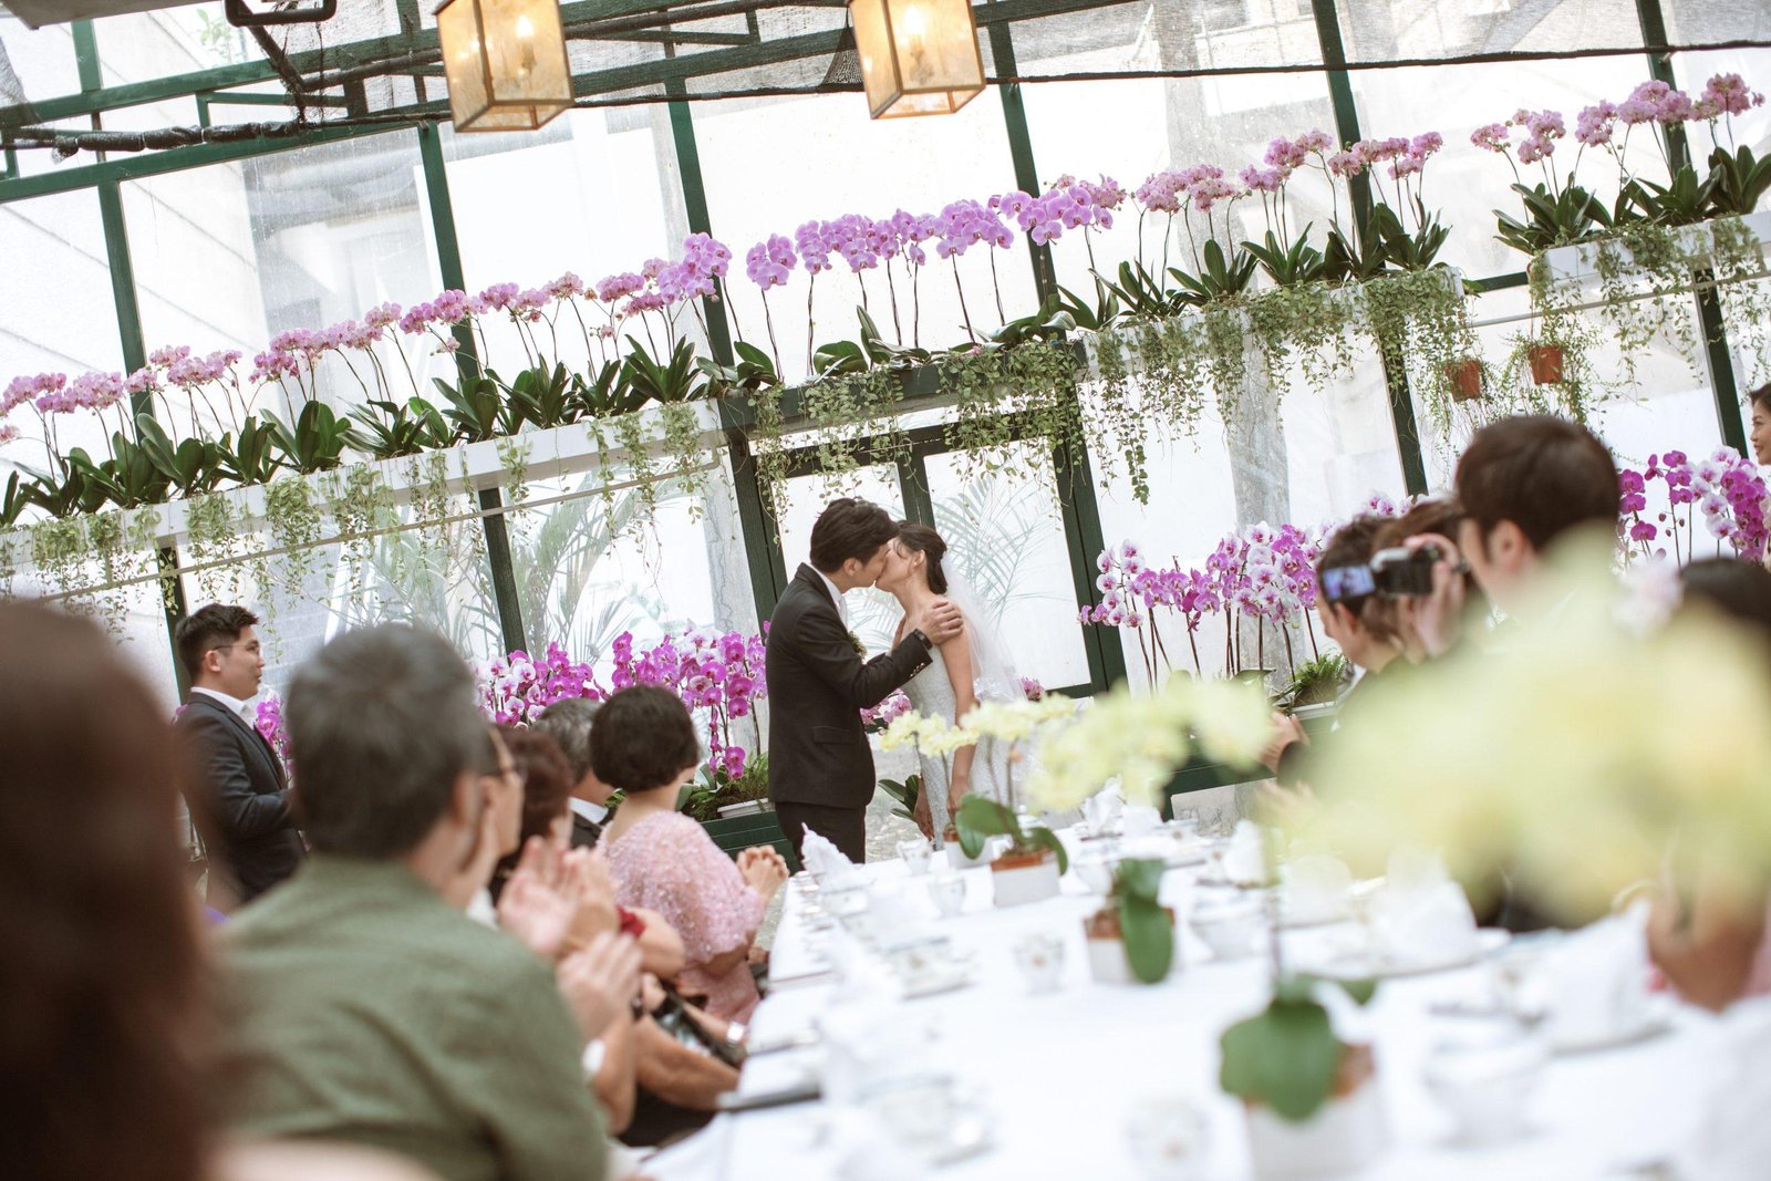
[[1535, 1000], [1551, 1045], [1606, 1043], [1642, 1027], [1649, 993], [1647, 903], [1601, 919], [1551, 947], [1535, 974]]

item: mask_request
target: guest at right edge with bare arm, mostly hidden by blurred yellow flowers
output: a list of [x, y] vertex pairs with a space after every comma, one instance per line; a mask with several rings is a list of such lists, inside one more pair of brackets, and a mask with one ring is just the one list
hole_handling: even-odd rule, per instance
[[[1771, 570], [1737, 558], [1693, 561], [1681, 572], [1681, 611], [1704, 611], [1759, 643], [1771, 666]], [[1766, 889], [1721, 891], [1704, 884], [1702, 850], [1674, 850], [1668, 882], [1649, 915], [1649, 956], [1681, 997], [1721, 1011], [1741, 997], [1771, 993]], [[1759, 901], [1750, 901], [1757, 896]]]

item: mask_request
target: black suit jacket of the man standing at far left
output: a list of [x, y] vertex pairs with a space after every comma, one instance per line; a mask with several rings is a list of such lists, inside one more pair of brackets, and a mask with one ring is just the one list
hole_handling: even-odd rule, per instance
[[305, 857], [283, 761], [244, 717], [207, 694], [191, 694], [177, 729], [193, 754], [191, 822], [209, 853], [209, 873], [230, 885], [237, 901], [251, 901]]

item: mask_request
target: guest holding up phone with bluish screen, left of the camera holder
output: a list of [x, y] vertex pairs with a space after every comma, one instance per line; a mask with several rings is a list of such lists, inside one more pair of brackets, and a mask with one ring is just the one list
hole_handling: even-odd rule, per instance
[[[1374, 593], [1365, 581], [1371, 574], [1373, 544], [1383, 524], [1381, 517], [1355, 517], [1328, 538], [1316, 560], [1316, 614], [1323, 621], [1323, 634], [1341, 646], [1341, 655], [1357, 669], [1353, 685], [1341, 694], [1341, 719], [1401, 655], [1394, 602]], [[1280, 784], [1291, 788], [1303, 777], [1309, 735], [1289, 714], [1279, 714], [1275, 722], [1279, 737], [1261, 753], [1261, 760]]]

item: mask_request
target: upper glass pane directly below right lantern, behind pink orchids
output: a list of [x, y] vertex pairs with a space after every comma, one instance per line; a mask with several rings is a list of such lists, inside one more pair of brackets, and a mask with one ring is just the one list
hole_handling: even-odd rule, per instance
[[[769, 292], [767, 320], [762, 294], [746, 276], [754, 243], [772, 234], [793, 239], [808, 220], [852, 212], [884, 220], [896, 209], [935, 214], [955, 200], [986, 202], [1013, 189], [999, 92], [942, 119], [877, 122], [857, 94], [728, 99], [698, 103], [694, 127], [714, 237], [733, 253], [728, 296], [737, 326], [744, 340], [767, 349], [772, 324], [790, 381], [809, 372], [809, 343], [859, 336], [855, 308], [862, 303], [887, 340], [919, 340], [930, 349], [967, 340], [967, 320], [979, 333], [997, 328], [997, 292], [1008, 317], [1038, 306], [1018, 230], [1009, 250], [978, 244], [951, 262], [930, 241], [928, 266], [914, 282], [901, 260], [862, 271], [857, 282], [832, 251], [832, 269], [815, 283], [795, 267], [786, 287]], [[808, 331], [808, 297], [815, 331]]]

